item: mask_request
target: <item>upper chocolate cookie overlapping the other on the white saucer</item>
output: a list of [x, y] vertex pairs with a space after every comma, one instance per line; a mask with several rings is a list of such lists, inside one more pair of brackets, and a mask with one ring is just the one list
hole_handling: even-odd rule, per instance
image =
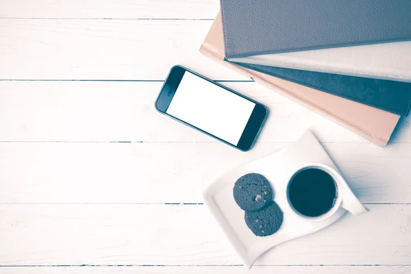
[[245, 211], [255, 211], [273, 200], [269, 181], [261, 174], [249, 173], [237, 180], [233, 188], [234, 200]]

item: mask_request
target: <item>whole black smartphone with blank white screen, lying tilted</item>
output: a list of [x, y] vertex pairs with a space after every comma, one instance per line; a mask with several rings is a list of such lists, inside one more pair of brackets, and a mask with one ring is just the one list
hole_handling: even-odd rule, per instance
[[155, 108], [241, 151], [251, 149], [268, 115], [261, 103], [183, 66], [171, 68]]

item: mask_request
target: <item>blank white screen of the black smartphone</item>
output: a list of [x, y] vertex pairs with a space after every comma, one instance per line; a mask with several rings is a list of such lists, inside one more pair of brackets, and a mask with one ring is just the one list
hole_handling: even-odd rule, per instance
[[255, 106], [186, 71], [166, 113], [236, 146]]

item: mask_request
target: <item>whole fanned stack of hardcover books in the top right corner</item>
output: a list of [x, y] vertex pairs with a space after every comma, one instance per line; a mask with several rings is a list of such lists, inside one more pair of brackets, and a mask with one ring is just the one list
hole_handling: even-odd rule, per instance
[[200, 51], [384, 146], [411, 108], [410, 0], [221, 0]]

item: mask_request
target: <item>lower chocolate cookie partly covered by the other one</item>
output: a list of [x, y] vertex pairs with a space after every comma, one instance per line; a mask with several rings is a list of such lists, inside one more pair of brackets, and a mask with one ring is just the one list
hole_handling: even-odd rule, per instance
[[266, 208], [258, 211], [245, 212], [245, 223], [254, 235], [264, 237], [277, 232], [282, 225], [283, 212], [273, 201]]

